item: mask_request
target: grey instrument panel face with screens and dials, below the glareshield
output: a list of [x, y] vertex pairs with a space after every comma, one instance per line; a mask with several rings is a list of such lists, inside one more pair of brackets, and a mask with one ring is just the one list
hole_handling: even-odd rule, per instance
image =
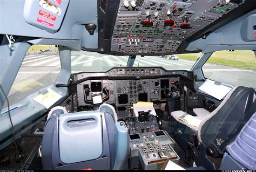
[[[77, 85], [78, 105], [90, 105], [91, 97], [100, 94], [106, 88], [109, 98], [107, 104], [116, 106], [129, 106], [138, 101], [164, 101], [166, 94], [178, 86], [179, 78], [140, 79], [140, 80], [86, 80]], [[85, 89], [90, 92], [85, 95]], [[102, 94], [102, 98], [107, 93]]]

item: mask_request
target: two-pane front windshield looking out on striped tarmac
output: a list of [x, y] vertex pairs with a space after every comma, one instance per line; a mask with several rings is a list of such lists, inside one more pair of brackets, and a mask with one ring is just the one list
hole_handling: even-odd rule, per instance
[[[160, 66], [166, 70], [190, 70], [201, 53], [167, 56], [137, 56], [133, 67]], [[112, 56], [97, 52], [72, 51], [72, 73], [102, 72], [112, 67], [125, 67], [129, 56]]]

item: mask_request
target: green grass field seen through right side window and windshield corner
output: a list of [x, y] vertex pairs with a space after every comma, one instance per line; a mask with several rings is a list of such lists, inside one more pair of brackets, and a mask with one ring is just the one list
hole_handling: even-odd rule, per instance
[[[197, 60], [200, 53], [193, 54], [178, 54], [181, 59]], [[217, 51], [207, 60], [207, 63], [234, 66], [240, 68], [256, 69], [256, 59], [253, 51], [250, 50], [235, 50], [235, 51]]]

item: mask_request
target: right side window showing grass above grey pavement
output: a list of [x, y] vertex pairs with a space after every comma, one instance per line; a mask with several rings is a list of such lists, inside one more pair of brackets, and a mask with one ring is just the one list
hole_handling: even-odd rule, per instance
[[214, 52], [202, 70], [207, 79], [256, 88], [256, 59], [251, 50]]

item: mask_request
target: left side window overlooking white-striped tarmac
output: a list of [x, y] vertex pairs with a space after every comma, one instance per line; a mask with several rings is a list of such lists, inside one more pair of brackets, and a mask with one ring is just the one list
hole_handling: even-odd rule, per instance
[[[60, 69], [59, 52], [55, 45], [31, 46], [8, 94], [10, 106], [17, 104], [27, 95], [52, 85]], [[6, 107], [5, 102], [3, 109]]]

